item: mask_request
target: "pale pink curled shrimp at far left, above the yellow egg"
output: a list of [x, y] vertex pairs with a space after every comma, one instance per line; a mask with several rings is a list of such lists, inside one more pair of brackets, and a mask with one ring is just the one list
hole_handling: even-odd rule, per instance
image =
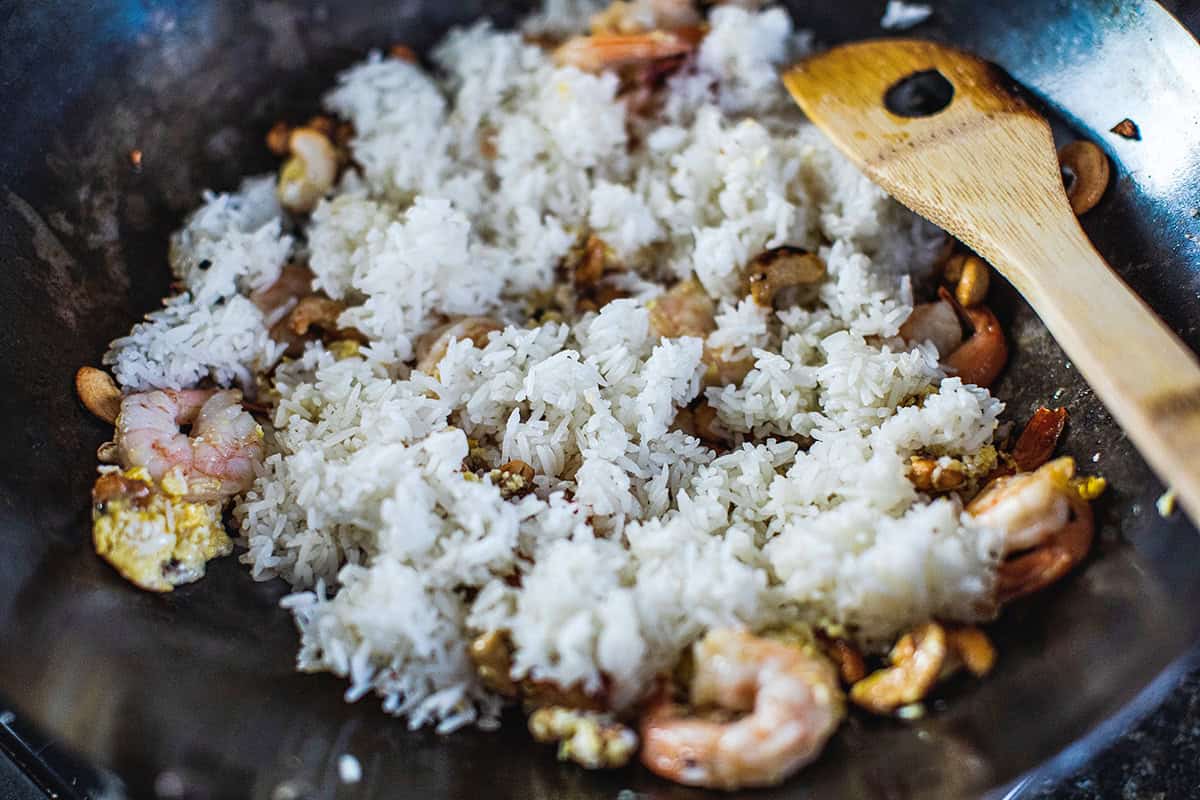
[[[116, 417], [121, 467], [155, 481], [181, 481], [191, 501], [223, 500], [250, 488], [263, 461], [263, 429], [240, 405], [241, 392], [187, 389], [130, 395]], [[179, 426], [191, 425], [191, 435]]]

